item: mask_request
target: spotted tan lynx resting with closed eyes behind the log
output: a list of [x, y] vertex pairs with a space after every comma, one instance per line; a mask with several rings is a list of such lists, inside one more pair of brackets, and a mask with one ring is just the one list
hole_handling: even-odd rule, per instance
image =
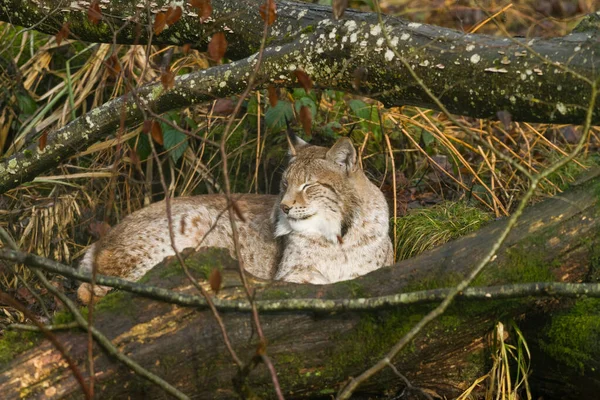
[[[347, 138], [331, 149], [294, 138], [281, 193], [234, 195], [246, 270], [263, 279], [327, 284], [352, 279], [393, 262], [388, 206], [356, 164]], [[171, 201], [177, 250], [221, 247], [235, 254], [223, 195]], [[282, 240], [277, 238], [281, 237]], [[136, 211], [86, 252], [80, 268], [137, 280], [173, 255], [164, 202]], [[95, 296], [108, 288], [95, 287]], [[79, 298], [91, 299], [82, 284]]]

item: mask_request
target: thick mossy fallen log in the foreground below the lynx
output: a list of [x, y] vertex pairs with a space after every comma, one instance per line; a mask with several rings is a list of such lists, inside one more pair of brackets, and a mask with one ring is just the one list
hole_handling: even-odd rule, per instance
[[[600, 173], [593, 175], [564, 194], [531, 206], [476, 284], [596, 282], [600, 273]], [[327, 286], [256, 281], [256, 298], [358, 298], [446, 287], [471, 270], [504, 224], [495, 221], [467, 237], [354, 281]], [[223, 252], [193, 254], [188, 265], [198, 275], [221, 266], [224, 289], [218, 296], [243, 297], [236, 263]], [[157, 266], [144, 279], [157, 286], [193, 291], [173, 261]], [[260, 319], [286, 397], [329, 398], [348, 376], [356, 376], [382, 357], [433, 306], [335, 313], [270, 311], [261, 313]], [[600, 302], [595, 299], [458, 299], [393, 362], [414, 386], [434, 397], [454, 398], [489, 371], [487, 338], [496, 322], [516, 321], [532, 351], [530, 382], [536, 397], [595, 398], [589, 396], [600, 390], [599, 314]], [[257, 351], [250, 314], [224, 312], [222, 316], [233, 347], [249, 361]], [[237, 368], [207, 310], [114, 292], [97, 305], [95, 326], [121, 351], [191, 397], [236, 396], [232, 380]], [[57, 335], [85, 369], [86, 335], [79, 331]], [[166, 398], [102, 350], [97, 349], [95, 356], [98, 398]], [[254, 394], [274, 397], [263, 365], [251, 371], [247, 384]], [[404, 382], [388, 369], [361, 386], [360, 395], [390, 395], [403, 387]], [[61, 356], [41, 337], [33, 348], [3, 367], [0, 393], [5, 399], [82, 397]], [[407, 398], [419, 398], [418, 393], [412, 396]]]

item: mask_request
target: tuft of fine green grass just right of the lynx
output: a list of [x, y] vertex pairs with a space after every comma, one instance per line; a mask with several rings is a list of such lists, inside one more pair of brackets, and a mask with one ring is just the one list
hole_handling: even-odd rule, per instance
[[396, 220], [398, 260], [414, 257], [479, 229], [492, 215], [465, 202], [411, 210]]

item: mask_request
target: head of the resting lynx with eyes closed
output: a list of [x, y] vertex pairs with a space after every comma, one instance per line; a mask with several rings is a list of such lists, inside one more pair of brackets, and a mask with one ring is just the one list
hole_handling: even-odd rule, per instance
[[297, 232], [338, 243], [359, 212], [357, 185], [366, 179], [348, 138], [330, 149], [290, 139], [291, 159], [275, 204], [275, 236]]

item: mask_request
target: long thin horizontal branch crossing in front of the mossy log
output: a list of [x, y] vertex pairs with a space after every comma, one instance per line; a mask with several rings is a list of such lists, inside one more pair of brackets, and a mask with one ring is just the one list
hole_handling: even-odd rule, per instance
[[[69, 278], [89, 282], [91, 274], [74, 270], [56, 261], [20, 251], [0, 249], [0, 259], [23, 263], [33, 269], [42, 269], [60, 274]], [[201, 296], [176, 292], [156, 286], [131, 282], [125, 279], [106, 275], [96, 275], [96, 282], [102, 286], [109, 286], [134, 293], [139, 296], [160, 300], [182, 307], [209, 308], [206, 300]], [[307, 312], [343, 312], [343, 311], [368, 311], [395, 308], [411, 304], [430, 304], [444, 300], [454, 288], [441, 288], [422, 290], [417, 292], [397, 293], [385, 296], [359, 297], [354, 299], [281, 299], [281, 300], [255, 300], [254, 304], [260, 312], [278, 313], [282, 311], [307, 311]], [[268, 293], [268, 292], [267, 292]], [[489, 287], [468, 287], [460, 291], [456, 298], [469, 301], [494, 301], [514, 299], [521, 297], [580, 297], [587, 296], [600, 298], [600, 283], [562, 283], [562, 282], [533, 282], [507, 284]], [[223, 312], [250, 312], [252, 307], [245, 299], [213, 300], [215, 307]]]

